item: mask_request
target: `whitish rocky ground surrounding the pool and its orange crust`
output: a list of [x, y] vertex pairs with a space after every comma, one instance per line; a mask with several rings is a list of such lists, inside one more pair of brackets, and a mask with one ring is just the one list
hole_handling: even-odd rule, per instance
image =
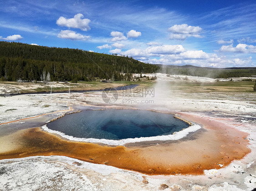
[[[256, 188], [255, 93], [186, 91], [174, 86], [166, 88], [169, 86], [163, 82], [164, 80], [159, 80], [154, 86], [154, 97], [139, 97], [140, 88], [143, 86], [138, 86], [138, 91], [135, 94], [132, 92], [133, 96], [130, 97], [127, 97], [129, 92], [120, 90], [118, 99], [113, 104], [107, 104], [106, 100], [102, 99], [102, 92], [0, 97], [0, 123], [88, 104], [173, 113], [188, 112], [222, 120], [242, 132], [249, 133], [247, 139], [251, 152], [242, 160], [233, 161], [228, 167], [211, 169], [200, 176], [146, 176], [134, 171], [61, 156], [1, 160], [0, 190], [251, 191]], [[148, 102], [149, 100], [151, 101]], [[61, 113], [65, 111], [59, 114]], [[22, 125], [26, 126], [26, 123]], [[3, 128], [6, 128], [6, 125], [0, 126], [0, 132]]]

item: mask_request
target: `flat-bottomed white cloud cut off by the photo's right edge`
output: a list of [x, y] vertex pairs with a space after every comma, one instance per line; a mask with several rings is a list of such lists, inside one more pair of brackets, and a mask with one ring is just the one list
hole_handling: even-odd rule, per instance
[[256, 46], [248, 44], [237, 44], [236, 47], [233, 47], [233, 44], [223, 45], [220, 47], [220, 52], [256, 53]]

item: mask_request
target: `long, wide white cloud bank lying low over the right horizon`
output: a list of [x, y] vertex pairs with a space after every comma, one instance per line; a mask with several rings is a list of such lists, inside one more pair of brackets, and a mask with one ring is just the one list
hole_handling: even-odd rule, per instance
[[[243, 47], [243, 46], [241, 46]], [[246, 49], [252, 52], [256, 46], [247, 45]], [[233, 47], [236, 48], [236, 47]], [[239, 46], [238, 46], [239, 48]], [[241, 48], [242, 49], [242, 48]], [[132, 56], [142, 62], [151, 64], [173, 64], [185, 65], [191, 64], [201, 67], [218, 67], [225, 68], [230, 66], [252, 66], [252, 57], [248, 59], [229, 59], [226, 56], [206, 53], [203, 50], [185, 50], [182, 45], [159, 45], [148, 46], [144, 49], [121, 49], [110, 50], [110, 53]]]

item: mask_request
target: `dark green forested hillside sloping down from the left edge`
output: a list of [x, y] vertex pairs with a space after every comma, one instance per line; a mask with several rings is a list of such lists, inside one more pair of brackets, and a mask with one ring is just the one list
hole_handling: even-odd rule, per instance
[[0, 78], [8, 81], [41, 80], [48, 73], [54, 81], [120, 81], [130, 80], [131, 73], [154, 73], [158, 69], [124, 56], [0, 41]]

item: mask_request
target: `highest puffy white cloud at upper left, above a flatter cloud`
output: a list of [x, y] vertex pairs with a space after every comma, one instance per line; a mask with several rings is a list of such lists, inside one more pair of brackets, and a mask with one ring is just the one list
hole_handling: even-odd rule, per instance
[[66, 19], [65, 17], [61, 16], [56, 21], [56, 24], [58, 24], [59, 26], [66, 26], [66, 27], [81, 29], [83, 31], [90, 30], [91, 28], [89, 27], [89, 23], [91, 22], [91, 20], [82, 19], [82, 18], [83, 18], [83, 15], [81, 13], [78, 13], [77, 15], [74, 16], [74, 18], [71, 18], [71, 19]]

